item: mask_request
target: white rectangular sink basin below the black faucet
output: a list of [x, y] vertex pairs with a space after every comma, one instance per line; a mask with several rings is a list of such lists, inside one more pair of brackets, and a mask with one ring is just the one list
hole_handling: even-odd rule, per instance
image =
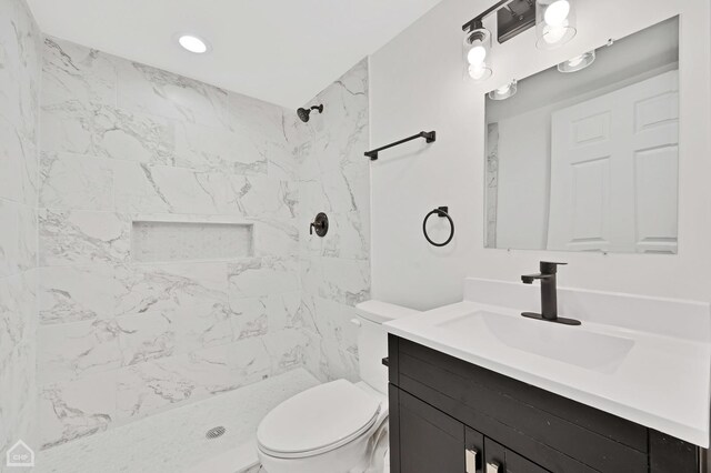
[[485, 333], [504, 345], [587, 370], [613, 373], [634, 341], [494, 312], [479, 311], [437, 324], [457, 333]]

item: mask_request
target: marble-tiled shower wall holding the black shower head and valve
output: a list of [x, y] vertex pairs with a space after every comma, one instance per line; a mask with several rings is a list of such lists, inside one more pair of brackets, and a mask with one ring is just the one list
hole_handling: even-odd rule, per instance
[[[299, 231], [307, 366], [320, 380], [359, 379], [354, 305], [370, 296], [368, 61], [321, 92], [323, 114], [302, 124]], [[326, 238], [309, 222], [327, 212]]]

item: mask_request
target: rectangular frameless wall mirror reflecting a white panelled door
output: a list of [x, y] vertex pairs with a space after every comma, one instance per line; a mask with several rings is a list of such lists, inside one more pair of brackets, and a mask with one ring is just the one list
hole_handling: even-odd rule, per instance
[[679, 19], [593, 53], [488, 94], [487, 248], [677, 253]]

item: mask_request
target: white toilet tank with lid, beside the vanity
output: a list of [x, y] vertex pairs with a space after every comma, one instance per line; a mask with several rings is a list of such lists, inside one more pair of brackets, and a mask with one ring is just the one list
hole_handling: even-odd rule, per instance
[[359, 326], [360, 378], [371, 388], [387, 394], [388, 368], [382, 364], [382, 359], [388, 356], [388, 331], [382, 324], [420, 311], [381, 301], [367, 301], [356, 305], [356, 313], [358, 319], [353, 322]]

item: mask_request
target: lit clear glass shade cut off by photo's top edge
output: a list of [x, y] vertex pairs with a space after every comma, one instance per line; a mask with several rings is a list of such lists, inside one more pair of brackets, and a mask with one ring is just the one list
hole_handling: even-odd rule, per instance
[[575, 0], [535, 0], [535, 47], [555, 49], [578, 32]]

